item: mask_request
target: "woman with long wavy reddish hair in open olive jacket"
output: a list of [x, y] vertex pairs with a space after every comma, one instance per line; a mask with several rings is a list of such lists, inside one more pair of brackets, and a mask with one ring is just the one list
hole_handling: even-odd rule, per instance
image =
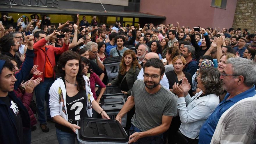
[[138, 63], [135, 52], [127, 50], [122, 57], [118, 76], [108, 86], [119, 86], [122, 93], [131, 95], [131, 89], [140, 72], [141, 65]]

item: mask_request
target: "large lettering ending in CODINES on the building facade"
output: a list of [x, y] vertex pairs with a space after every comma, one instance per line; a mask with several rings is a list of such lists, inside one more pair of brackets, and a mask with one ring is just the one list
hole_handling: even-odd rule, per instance
[[58, 0], [5, 0], [8, 5], [18, 5], [18, 6], [42, 6], [42, 7], [59, 7]]

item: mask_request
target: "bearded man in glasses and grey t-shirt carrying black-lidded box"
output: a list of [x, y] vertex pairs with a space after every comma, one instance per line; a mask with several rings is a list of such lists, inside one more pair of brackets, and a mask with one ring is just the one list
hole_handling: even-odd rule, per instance
[[135, 114], [131, 119], [129, 143], [163, 143], [163, 132], [170, 127], [176, 114], [176, 98], [173, 93], [163, 88], [164, 65], [158, 58], [151, 58], [144, 66], [144, 79], [134, 82], [131, 97], [116, 116], [121, 118], [135, 105]]

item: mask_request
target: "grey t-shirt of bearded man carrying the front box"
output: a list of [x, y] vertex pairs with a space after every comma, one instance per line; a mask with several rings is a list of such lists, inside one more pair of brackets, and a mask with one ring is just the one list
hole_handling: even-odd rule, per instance
[[135, 114], [131, 123], [141, 131], [147, 131], [162, 124], [162, 116], [176, 115], [175, 95], [161, 86], [155, 94], [147, 93], [144, 81], [134, 82], [131, 95], [134, 97]]

